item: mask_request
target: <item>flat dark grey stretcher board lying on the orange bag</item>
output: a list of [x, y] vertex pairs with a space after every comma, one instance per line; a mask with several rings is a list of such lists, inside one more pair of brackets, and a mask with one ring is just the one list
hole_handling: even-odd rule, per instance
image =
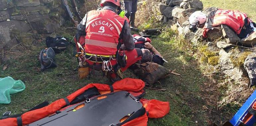
[[[43, 118], [27, 126], [111, 126], [120, 123], [120, 119], [133, 114], [142, 107], [135, 97], [127, 95], [126, 91], [110, 93], [106, 98], [98, 100], [96, 97], [85, 103], [85, 106], [72, 111], [72, 106], [59, 114]], [[133, 98], [132, 98], [133, 97]], [[78, 104], [79, 105], [79, 104]]]

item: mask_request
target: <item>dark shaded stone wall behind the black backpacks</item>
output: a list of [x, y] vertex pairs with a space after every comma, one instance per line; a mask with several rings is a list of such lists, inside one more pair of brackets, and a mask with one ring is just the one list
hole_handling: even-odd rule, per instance
[[60, 0], [0, 0], [0, 49], [31, 44], [37, 33], [54, 32], [64, 23]]

